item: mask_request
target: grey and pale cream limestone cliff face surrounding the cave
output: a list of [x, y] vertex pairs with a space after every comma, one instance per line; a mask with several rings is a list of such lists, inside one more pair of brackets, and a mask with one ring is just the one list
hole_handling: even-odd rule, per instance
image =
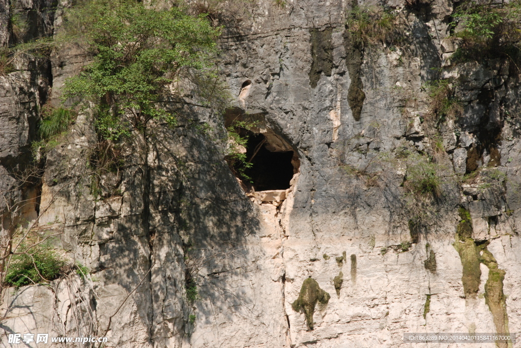
[[[401, 8], [405, 28], [393, 50], [355, 49], [351, 4], [340, 0], [266, 0], [241, 32], [221, 36], [220, 70], [237, 96], [230, 115], [259, 120], [271, 144], [298, 155], [282, 203], [247, 197], [222, 145], [183, 121], [136, 136], [96, 199], [79, 160], [95, 133], [80, 113], [41, 183], [17, 195], [42, 192], [30, 213], [63, 228], [56, 245], [92, 275], [8, 292], [4, 310], [15, 309], [0, 347], [11, 332], [102, 336], [109, 322], [107, 347], [390, 347], [406, 346], [404, 332], [521, 331], [518, 71], [506, 60], [450, 64], [451, 3], [387, 5]], [[23, 60], [0, 78], [2, 189], [29, 161], [38, 107], [87, 59], [69, 48], [52, 67]], [[424, 86], [449, 77], [463, 114], [439, 126], [441, 193], [417, 223], [404, 185], [411, 162], [387, 159], [433, 146]], [[184, 112], [224, 132], [203, 108]], [[456, 178], [477, 168], [495, 181]], [[312, 294], [309, 277], [330, 295], [313, 298], [311, 325], [292, 308]]]

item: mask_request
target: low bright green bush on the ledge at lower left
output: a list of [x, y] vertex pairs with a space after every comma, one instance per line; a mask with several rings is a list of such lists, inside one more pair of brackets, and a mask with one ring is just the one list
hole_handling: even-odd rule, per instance
[[41, 250], [32, 255], [13, 257], [5, 283], [16, 288], [52, 281], [66, 273], [67, 262], [53, 250]]

